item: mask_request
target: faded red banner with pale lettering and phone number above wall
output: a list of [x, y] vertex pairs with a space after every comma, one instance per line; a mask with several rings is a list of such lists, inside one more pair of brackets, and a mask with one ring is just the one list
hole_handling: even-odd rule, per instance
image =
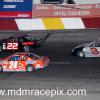
[[33, 16], [40, 17], [100, 17], [100, 4], [43, 5], [33, 7]]

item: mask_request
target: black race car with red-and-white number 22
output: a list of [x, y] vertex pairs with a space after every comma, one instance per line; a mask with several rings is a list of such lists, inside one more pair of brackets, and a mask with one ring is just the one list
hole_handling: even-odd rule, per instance
[[0, 52], [2, 51], [30, 51], [43, 45], [43, 39], [33, 39], [29, 35], [12, 36], [0, 41]]

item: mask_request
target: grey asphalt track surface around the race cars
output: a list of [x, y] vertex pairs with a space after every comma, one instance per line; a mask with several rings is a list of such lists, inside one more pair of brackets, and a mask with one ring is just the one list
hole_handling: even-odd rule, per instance
[[[44, 31], [34, 32], [43, 35]], [[48, 31], [50, 37], [43, 47], [34, 50], [48, 56], [50, 65], [33, 73], [1, 73], [0, 89], [86, 89], [86, 96], [0, 96], [0, 100], [100, 100], [100, 58], [75, 58], [71, 50], [100, 37], [100, 30]], [[9, 34], [9, 35], [7, 35]], [[0, 38], [12, 33], [1, 33]], [[36, 34], [36, 35], [37, 35]], [[32, 34], [33, 35], [33, 34]], [[6, 56], [3, 54], [1, 56]], [[0, 57], [1, 57], [0, 56]]]

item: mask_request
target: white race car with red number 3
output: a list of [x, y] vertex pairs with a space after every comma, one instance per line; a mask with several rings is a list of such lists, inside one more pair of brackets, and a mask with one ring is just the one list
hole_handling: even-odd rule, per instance
[[100, 40], [75, 47], [72, 55], [78, 57], [100, 57]]

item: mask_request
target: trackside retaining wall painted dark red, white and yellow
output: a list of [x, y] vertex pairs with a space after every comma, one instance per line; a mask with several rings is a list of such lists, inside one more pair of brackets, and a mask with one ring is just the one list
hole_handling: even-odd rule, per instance
[[56, 30], [100, 28], [100, 18], [43, 18], [0, 20], [0, 30]]

